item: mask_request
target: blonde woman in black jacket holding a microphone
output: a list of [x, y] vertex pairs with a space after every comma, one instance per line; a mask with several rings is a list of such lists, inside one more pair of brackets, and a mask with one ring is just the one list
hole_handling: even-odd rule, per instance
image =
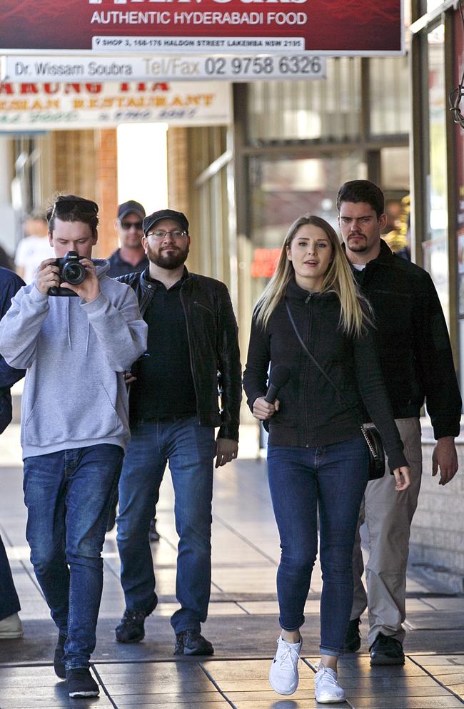
[[[290, 314], [288, 312], [290, 310]], [[343, 394], [343, 402], [298, 341]], [[290, 369], [278, 399], [266, 402], [268, 369]], [[352, 552], [368, 481], [359, 420], [378, 427], [398, 494], [410, 484], [373, 340], [367, 302], [358, 294], [337, 235], [311, 215], [288, 230], [275, 274], [253, 315], [243, 377], [253, 415], [268, 421], [268, 479], [281, 538], [277, 573], [281, 636], [269, 681], [279, 694], [298, 686], [300, 628], [318, 551], [320, 518], [321, 662], [315, 696], [343, 702], [337, 660], [353, 599]]]

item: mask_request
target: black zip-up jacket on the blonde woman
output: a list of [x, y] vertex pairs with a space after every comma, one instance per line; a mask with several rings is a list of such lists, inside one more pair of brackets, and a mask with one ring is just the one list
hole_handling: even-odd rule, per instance
[[281, 300], [266, 330], [253, 317], [243, 377], [248, 406], [253, 411], [255, 400], [266, 395], [269, 362], [271, 367], [285, 364], [291, 370], [288, 384], [278, 393], [280, 408], [269, 419], [269, 443], [317, 447], [360, 437], [362, 397], [382, 437], [390, 468], [408, 465], [372, 330], [366, 328], [360, 337], [348, 337], [340, 327], [340, 302], [333, 292], [308, 293], [291, 280], [286, 299], [303, 342], [346, 403], [303, 351]]

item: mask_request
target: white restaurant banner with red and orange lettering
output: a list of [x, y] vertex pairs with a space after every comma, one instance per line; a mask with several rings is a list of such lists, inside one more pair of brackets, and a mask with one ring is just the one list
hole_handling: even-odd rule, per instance
[[171, 126], [231, 123], [231, 86], [221, 81], [0, 84], [0, 131], [69, 131], [156, 121]]

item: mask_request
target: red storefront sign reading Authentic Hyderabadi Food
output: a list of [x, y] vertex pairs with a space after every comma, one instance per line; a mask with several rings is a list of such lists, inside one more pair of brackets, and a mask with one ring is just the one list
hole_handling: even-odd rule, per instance
[[[403, 50], [401, 0], [0, 0], [0, 10], [0, 52], [9, 54], [160, 51], [163, 38], [186, 53], [199, 51], [189, 38], [201, 38], [203, 53]], [[126, 44], [111, 44], [117, 38]]]

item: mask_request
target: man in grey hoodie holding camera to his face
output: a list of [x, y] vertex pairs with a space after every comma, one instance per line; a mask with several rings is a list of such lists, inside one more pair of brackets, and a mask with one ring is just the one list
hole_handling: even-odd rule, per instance
[[98, 206], [59, 197], [47, 212], [57, 260], [39, 266], [0, 322], [0, 352], [27, 369], [21, 409], [26, 536], [59, 630], [54, 668], [70, 697], [99, 687], [89, 670], [103, 584], [101, 549], [130, 437], [124, 372], [146, 349], [130, 287], [92, 260]]

